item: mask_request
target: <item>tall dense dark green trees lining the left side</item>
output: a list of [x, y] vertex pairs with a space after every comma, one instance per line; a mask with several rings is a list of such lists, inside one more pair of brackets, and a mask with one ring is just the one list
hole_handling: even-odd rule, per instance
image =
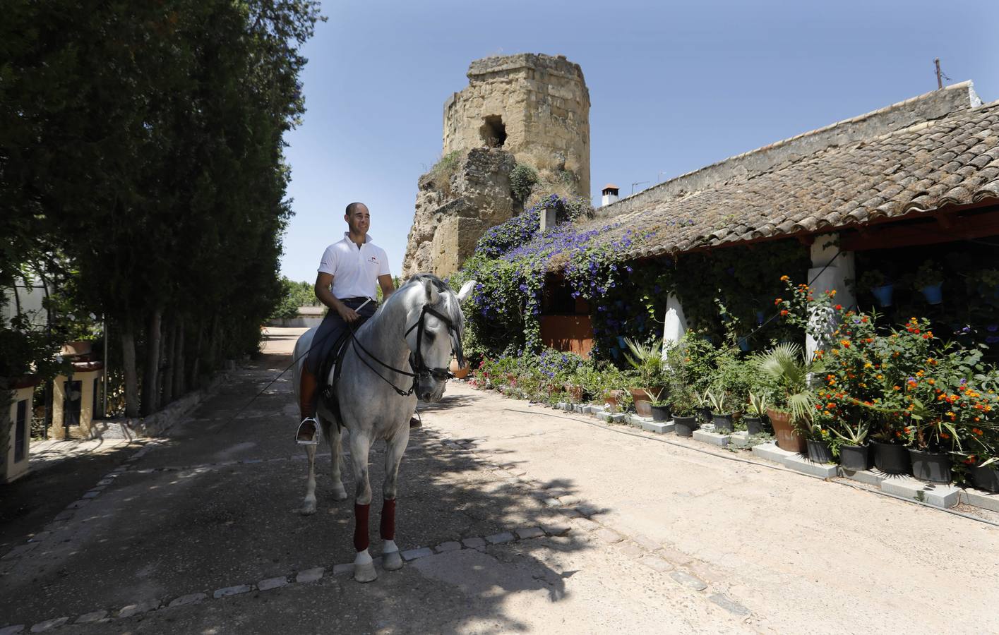
[[282, 139], [305, 112], [299, 46], [319, 3], [12, 0], [4, 14], [0, 286], [26, 269], [72, 279], [78, 313], [147, 360], [151, 411], [255, 350], [281, 298]]

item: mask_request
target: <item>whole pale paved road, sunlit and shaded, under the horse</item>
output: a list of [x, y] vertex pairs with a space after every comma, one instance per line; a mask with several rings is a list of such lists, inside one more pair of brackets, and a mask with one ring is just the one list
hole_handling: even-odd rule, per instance
[[0, 490], [61, 502], [0, 527], [18, 545], [0, 560], [0, 633], [999, 630], [995, 528], [460, 383], [403, 461], [397, 542], [413, 559], [358, 584], [338, 566], [352, 514], [328, 454], [319, 512], [298, 513], [290, 383], [233, 418], [297, 332], [271, 329], [261, 360], [120, 465]]

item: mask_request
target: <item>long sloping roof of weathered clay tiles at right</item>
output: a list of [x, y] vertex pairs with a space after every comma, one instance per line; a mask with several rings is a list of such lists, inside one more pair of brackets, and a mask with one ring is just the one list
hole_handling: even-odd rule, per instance
[[[579, 230], [654, 231], [631, 258], [820, 233], [946, 205], [999, 203], [999, 102], [825, 148], [678, 198], [650, 200]], [[557, 264], [556, 264], [557, 265]]]

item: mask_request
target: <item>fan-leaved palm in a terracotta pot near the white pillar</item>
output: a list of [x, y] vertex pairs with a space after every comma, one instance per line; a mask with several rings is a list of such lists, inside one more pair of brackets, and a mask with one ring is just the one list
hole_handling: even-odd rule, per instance
[[799, 427], [810, 421], [815, 393], [808, 385], [808, 375], [818, 371], [821, 363], [821, 358], [805, 361], [801, 346], [791, 342], [779, 343], [755, 357], [760, 374], [772, 385], [766, 414], [782, 449], [799, 453], [807, 450]]

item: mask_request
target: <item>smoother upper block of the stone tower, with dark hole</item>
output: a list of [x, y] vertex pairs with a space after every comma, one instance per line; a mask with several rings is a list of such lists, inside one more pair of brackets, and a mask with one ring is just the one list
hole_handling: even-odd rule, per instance
[[[476, 60], [444, 107], [444, 153], [496, 146], [563, 166], [589, 193], [589, 91], [578, 64], [523, 53]], [[501, 132], [500, 132], [501, 131]], [[542, 165], [536, 165], [540, 163]]]

